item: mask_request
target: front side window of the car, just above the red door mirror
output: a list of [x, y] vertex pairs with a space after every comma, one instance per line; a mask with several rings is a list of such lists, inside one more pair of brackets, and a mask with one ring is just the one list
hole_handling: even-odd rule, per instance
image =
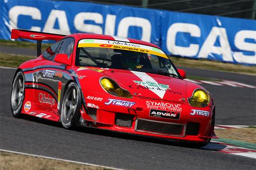
[[71, 56], [74, 48], [74, 38], [65, 38], [60, 41], [56, 54], [67, 54]]

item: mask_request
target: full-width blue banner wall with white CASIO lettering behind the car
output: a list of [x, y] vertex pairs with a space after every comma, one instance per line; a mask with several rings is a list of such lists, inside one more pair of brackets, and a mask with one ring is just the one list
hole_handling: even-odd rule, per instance
[[255, 20], [83, 2], [0, 3], [0, 39], [12, 29], [108, 34], [152, 42], [168, 55], [256, 65]]

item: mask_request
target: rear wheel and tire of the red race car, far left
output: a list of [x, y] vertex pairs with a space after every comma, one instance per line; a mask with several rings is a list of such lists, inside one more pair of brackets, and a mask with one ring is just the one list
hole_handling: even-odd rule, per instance
[[14, 117], [22, 116], [22, 106], [25, 99], [25, 78], [22, 71], [18, 71], [11, 92], [11, 110]]

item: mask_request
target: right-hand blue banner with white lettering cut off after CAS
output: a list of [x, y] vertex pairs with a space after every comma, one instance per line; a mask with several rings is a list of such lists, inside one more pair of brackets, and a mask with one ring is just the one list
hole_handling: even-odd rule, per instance
[[165, 12], [162, 48], [169, 55], [256, 64], [256, 21]]

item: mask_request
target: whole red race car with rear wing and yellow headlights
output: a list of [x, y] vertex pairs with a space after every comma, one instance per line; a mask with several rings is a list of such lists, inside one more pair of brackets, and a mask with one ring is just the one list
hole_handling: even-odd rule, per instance
[[[183, 80], [152, 43], [99, 34], [68, 36], [12, 30], [37, 40], [38, 57], [16, 70], [11, 93], [15, 117], [28, 114], [76, 125], [205, 145], [214, 134], [210, 93]], [[42, 40], [56, 40], [41, 54]]]

